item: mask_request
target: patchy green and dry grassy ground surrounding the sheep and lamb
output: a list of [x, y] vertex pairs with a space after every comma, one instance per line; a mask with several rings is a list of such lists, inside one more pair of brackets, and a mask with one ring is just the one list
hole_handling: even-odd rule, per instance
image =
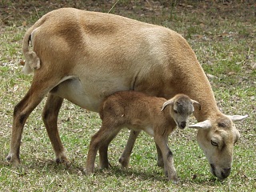
[[[148, 3], [150, 2], [150, 4]], [[92, 176], [83, 174], [90, 137], [98, 130], [98, 114], [65, 101], [58, 126], [71, 165], [54, 162], [54, 152], [41, 120], [42, 102], [30, 115], [22, 134], [22, 167], [6, 162], [14, 105], [30, 86], [31, 75], [22, 74], [22, 37], [26, 29], [47, 11], [61, 6], [107, 12], [113, 3], [103, 1], [0, 2], [0, 190], [4, 191], [256, 191], [256, 30], [254, 1], [126, 1], [113, 14], [121, 14], [178, 31], [190, 43], [210, 78], [219, 108], [225, 114], [249, 114], [237, 123], [241, 139], [234, 149], [230, 176], [219, 181], [196, 142], [196, 130], [176, 130], [169, 146], [180, 183], [168, 182], [156, 166], [153, 138], [139, 135], [130, 159], [122, 170], [118, 157], [129, 132], [123, 130], [110, 145], [112, 167]], [[191, 119], [194, 122], [194, 119]]]

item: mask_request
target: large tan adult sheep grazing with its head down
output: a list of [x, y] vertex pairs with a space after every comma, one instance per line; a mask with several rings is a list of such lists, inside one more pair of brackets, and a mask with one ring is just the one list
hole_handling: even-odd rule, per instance
[[[63, 98], [98, 112], [106, 96], [137, 90], [163, 98], [186, 94], [198, 101], [202, 110], [194, 111], [198, 120], [194, 127], [198, 128], [199, 146], [215, 176], [222, 179], [230, 174], [234, 142], [239, 138], [233, 122], [246, 116], [227, 116], [218, 110], [210, 83], [180, 34], [114, 14], [63, 8], [44, 15], [26, 31], [22, 50], [26, 58], [23, 71], [34, 71], [34, 78], [14, 107], [7, 156], [14, 166], [20, 163], [26, 119], [46, 94], [42, 118], [56, 162], [66, 162], [57, 126]], [[130, 135], [129, 140], [133, 139]], [[158, 150], [160, 165], [161, 159]]]

